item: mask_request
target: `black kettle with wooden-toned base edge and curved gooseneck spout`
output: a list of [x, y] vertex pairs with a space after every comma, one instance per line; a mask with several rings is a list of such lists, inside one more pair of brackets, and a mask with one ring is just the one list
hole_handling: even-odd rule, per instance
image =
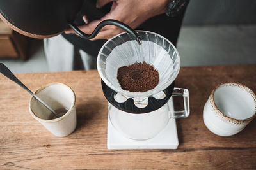
[[90, 39], [105, 25], [116, 25], [141, 43], [131, 27], [117, 20], [104, 20], [92, 34], [85, 34], [72, 23], [82, 4], [82, 0], [0, 0], [0, 18], [13, 30], [31, 38], [56, 36], [69, 26], [82, 38]]

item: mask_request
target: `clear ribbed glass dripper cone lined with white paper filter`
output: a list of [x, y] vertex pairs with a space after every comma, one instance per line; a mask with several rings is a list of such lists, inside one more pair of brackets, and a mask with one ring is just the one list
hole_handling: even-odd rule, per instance
[[[153, 32], [137, 31], [142, 45], [138, 45], [127, 32], [109, 39], [100, 49], [97, 69], [102, 80], [111, 89], [127, 97], [148, 97], [166, 89], [177, 77], [180, 58], [175, 46]], [[147, 92], [129, 92], [123, 90], [117, 80], [119, 67], [129, 66], [135, 62], [152, 64], [159, 73], [159, 84]]]

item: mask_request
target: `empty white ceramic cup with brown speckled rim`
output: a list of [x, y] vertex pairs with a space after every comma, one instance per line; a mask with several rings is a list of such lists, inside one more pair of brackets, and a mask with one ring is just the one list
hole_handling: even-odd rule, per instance
[[256, 96], [241, 83], [222, 83], [204, 106], [204, 124], [219, 136], [232, 136], [242, 131], [256, 115]]

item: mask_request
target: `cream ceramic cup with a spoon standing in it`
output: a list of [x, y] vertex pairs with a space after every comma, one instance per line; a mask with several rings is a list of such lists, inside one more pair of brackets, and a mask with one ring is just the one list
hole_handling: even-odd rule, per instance
[[74, 91], [63, 83], [50, 83], [40, 87], [35, 94], [54, 111], [66, 110], [65, 115], [54, 118], [53, 113], [34, 97], [29, 101], [29, 112], [55, 136], [68, 136], [76, 129], [76, 96]]

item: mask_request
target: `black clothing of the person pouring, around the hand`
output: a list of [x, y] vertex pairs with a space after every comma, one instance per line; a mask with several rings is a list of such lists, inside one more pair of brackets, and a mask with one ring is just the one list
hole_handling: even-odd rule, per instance
[[[104, 8], [97, 9], [95, 6], [96, 1], [84, 1], [83, 7], [77, 16], [75, 24], [83, 25], [84, 22], [82, 20], [83, 15], [87, 15], [90, 20], [96, 20], [108, 13], [111, 9], [111, 4], [109, 3]], [[145, 21], [140, 27], [136, 28], [137, 30], [145, 30], [152, 31], [164, 36], [169, 39], [173, 45], [176, 45], [177, 39], [179, 36], [180, 27], [182, 24], [184, 13], [178, 15], [177, 17], [167, 17], [165, 14], [157, 15], [156, 17], [152, 17]], [[135, 29], [135, 30], [136, 30]], [[98, 52], [102, 45], [106, 43], [107, 40], [101, 39], [96, 41], [90, 41], [88, 39], [83, 39], [75, 34], [62, 34], [65, 39], [70, 41], [70, 43], [74, 44], [84, 52], [89, 53], [97, 57]]]

